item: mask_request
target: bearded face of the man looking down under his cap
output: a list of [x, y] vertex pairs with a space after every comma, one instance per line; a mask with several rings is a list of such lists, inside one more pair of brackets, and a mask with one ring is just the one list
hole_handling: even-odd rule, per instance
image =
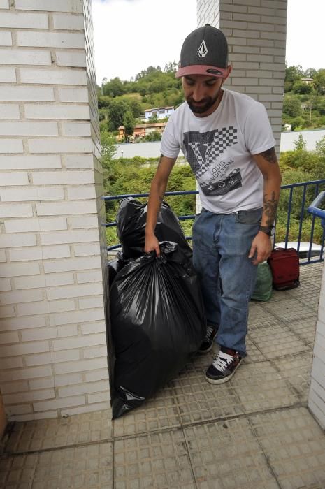
[[183, 76], [182, 87], [189, 108], [197, 117], [212, 114], [219, 102], [220, 89], [224, 78], [206, 75]]

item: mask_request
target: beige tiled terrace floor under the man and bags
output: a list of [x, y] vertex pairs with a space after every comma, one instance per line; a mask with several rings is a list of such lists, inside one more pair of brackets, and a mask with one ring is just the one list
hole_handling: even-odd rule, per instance
[[248, 355], [227, 384], [197, 356], [143, 407], [16, 423], [0, 488], [325, 489], [325, 435], [307, 409], [322, 265], [252, 302]]

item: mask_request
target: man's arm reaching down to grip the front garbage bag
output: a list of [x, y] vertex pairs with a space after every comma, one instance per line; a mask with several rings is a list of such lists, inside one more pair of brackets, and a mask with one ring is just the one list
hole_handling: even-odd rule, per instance
[[164, 199], [169, 175], [175, 164], [175, 158], [167, 158], [161, 154], [156, 174], [151, 183], [150, 196], [147, 207], [147, 224], [145, 226], [145, 253], [156, 251], [160, 255], [159, 242], [154, 235], [157, 224], [157, 215]]

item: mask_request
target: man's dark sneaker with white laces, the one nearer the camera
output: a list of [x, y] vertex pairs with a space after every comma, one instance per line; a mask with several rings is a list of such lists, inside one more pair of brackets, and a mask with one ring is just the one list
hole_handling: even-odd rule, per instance
[[242, 360], [243, 358], [238, 355], [238, 351], [222, 346], [215, 360], [213, 360], [206, 371], [205, 378], [210, 384], [223, 384], [224, 382], [228, 382], [233, 377]]

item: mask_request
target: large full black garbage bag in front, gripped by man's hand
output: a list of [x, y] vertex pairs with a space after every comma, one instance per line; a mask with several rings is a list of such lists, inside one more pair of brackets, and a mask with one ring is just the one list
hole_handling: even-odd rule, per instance
[[177, 244], [117, 273], [110, 289], [115, 345], [113, 418], [138, 407], [198, 351], [206, 332], [198, 278]]

